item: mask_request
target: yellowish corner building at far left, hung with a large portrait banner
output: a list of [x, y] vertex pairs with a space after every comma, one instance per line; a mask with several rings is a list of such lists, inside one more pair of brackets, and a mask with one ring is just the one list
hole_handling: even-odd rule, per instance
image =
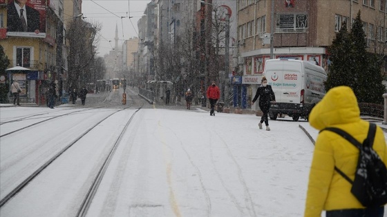
[[[19, 81], [21, 99], [44, 103], [39, 96], [44, 95], [45, 85], [55, 80], [57, 21], [63, 12], [60, 3], [59, 0], [27, 1], [27, 10], [34, 16], [24, 17], [24, 12], [15, 9], [15, 1], [0, 1], [0, 45], [10, 59], [10, 68], [25, 69], [8, 71], [6, 83]], [[21, 18], [26, 20], [25, 25], [20, 22]]]

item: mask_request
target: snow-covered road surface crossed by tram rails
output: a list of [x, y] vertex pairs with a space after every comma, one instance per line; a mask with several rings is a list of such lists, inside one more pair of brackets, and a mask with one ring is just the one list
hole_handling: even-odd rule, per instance
[[[1, 107], [0, 122], [52, 111]], [[63, 112], [70, 110], [57, 107], [46, 116]], [[84, 109], [1, 137], [1, 198], [113, 112]], [[87, 216], [303, 216], [314, 146], [299, 125], [317, 138], [307, 122], [270, 121], [267, 132], [254, 115], [157, 106], [123, 110], [97, 125], [3, 205], [0, 216], [76, 216], [133, 114]], [[0, 136], [30, 121], [2, 124]]]

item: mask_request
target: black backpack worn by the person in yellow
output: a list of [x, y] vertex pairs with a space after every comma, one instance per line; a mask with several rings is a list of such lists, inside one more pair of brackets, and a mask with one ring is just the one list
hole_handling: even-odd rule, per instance
[[343, 178], [346, 178], [352, 184], [351, 193], [364, 207], [380, 207], [385, 205], [387, 203], [387, 169], [377, 152], [372, 149], [376, 125], [370, 123], [368, 136], [363, 144], [339, 128], [327, 127], [323, 130], [329, 130], [343, 136], [343, 138], [346, 138], [346, 140], [359, 149], [355, 180], [352, 181], [339, 168], [334, 167]]

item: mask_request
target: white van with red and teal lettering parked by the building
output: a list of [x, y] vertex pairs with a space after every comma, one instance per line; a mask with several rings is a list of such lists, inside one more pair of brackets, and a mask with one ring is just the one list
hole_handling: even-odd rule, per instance
[[270, 107], [270, 119], [287, 114], [294, 121], [308, 119], [312, 107], [325, 95], [327, 74], [319, 65], [309, 61], [270, 59], [266, 61], [263, 75], [272, 85], [276, 103]]

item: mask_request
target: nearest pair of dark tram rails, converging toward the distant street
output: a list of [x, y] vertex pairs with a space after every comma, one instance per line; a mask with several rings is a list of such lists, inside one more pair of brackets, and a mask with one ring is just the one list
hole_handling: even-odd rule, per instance
[[[140, 105], [139, 105], [140, 104]], [[111, 158], [113, 158], [115, 149], [117, 149], [117, 146], [120, 144], [120, 140], [122, 138], [122, 135], [124, 134], [125, 130], [131, 123], [131, 120], [135, 116], [135, 114], [141, 110], [142, 106], [144, 105], [144, 101], [141, 101], [141, 103], [133, 103], [133, 105], [129, 105], [127, 107], [124, 107], [120, 110], [117, 110], [111, 114], [108, 114], [108, 116], [102, 118], [100, 121], [97, 121], [97, 123], [93, 124], [91, 127], [89, 127], [86, 131], [82, 132], [77, 138], [73, 139], [70, 143], [68, 143], [66, 146], [64, 146], [57, 154], [52, 156], [48, 161], [46, 161], [43, 165], [41, 165], [38, 169], [36, 169], [32, 174], [30, 174], [27, 178], [21, 181], [17, 187], [12, 189], [6, 196], [1, 198], [0, 200], [0, 209], [8, 203], [8, 201], [12, 200], [12, 198], [17, 195], [19, 192], [21, 192], [29, 183], [32, 182], [41, 172], [44, 171], [49, 165], [52, 165], [53, 162], [59, 158], [59, 156], [62, 156], [70, 147], [73, 147], [81, 138], [84, 138], [89, 132], [91, 132], [95, 127], [100, 125], [102, 122], [106, 121], [109, 117], [113, 116], [113, 114], [117, 114], [118, 112], [122, 112], [123, 110], [126, 110], [130, 107], [136, 106], [135, 112], [131, 115], [131, 118], [129, 118], [129, 121], [126, 122], [125, 127], [122, 129], [122, 132], [120, 132], [120, 135], [115, 140], [114, 145], [111, 147], [110, 152], [108, 153], [106, 159], [104, 159], [104, 163], [102, 164], [102, 167], [99, 169], [97, 176], [93, 180], [93, 185], [91, 185], [91, 188], [88, 189], [88, 193], [84, 200], [82, 200], [81, 207], [79, 211], [77, 212], [77, 216], [84, 216], [87, 212], [87, 209], [91, 203], [91, 200], [93, 199], [93, 196], [95, 192], [97, 191], [97, 187], [100, 184], [100, 181], [102, 180], [102, 177], [104, 176], [104, 172], [106, 171], [106, 168], [108, 167], [109, 162], [111, 161]], [[66, 115], [66, 114], [64, 114]]]

